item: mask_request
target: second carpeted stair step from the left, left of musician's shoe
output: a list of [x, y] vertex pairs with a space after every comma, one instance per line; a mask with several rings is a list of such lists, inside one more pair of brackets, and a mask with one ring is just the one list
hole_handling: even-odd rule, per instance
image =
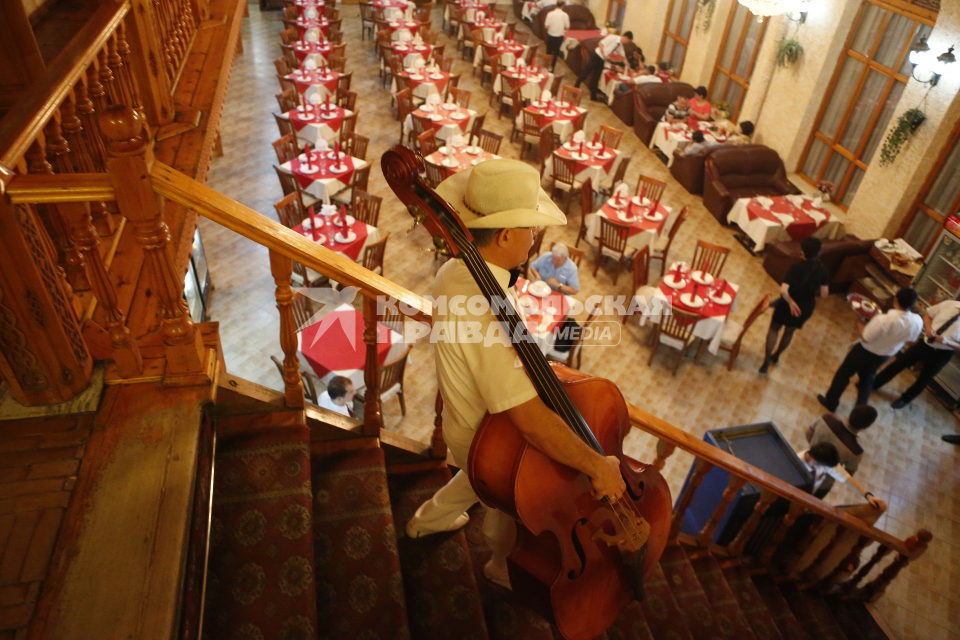
[[318, 637], [409, 638], [383, 450], [310, 462]]

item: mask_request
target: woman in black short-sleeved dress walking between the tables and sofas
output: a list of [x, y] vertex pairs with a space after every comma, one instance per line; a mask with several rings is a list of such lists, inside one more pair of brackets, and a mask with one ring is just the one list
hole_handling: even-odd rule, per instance
[[[804, 261], [790, 267], [780, 285], [780, 297], [774, 303], [774, 317], [767, 331], [766, 355], [760, 373], [766, 373], [771, 364], [776, 365], [780, 360], [780, 354], [793, 339], [793, 332], [804, 326], [804, 322], [813, 315], [817, 296], [826, 297], [828, 294], [829, 273], [817, 259], [820, 247], [821, 242], [817, 238], [805, 238], [800, 243], [800, 248], [804, 250]], [[780, 328], [783, 329], [782, 337]]]

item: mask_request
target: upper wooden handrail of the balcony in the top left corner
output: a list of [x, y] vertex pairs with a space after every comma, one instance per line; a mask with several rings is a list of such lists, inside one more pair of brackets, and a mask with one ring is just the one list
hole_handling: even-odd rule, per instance
[[103, 2], [29, 93], [0, 120], [0, 165], [16, 167], [130, 11], [127, 0]]

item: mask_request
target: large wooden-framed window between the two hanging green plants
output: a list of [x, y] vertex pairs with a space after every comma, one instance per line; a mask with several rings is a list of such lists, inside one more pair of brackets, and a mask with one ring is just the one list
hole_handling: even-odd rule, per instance
[[910, 78], [907, 54], [933, 20], [902, 2], [865, 0], [806, 142], [798, 173], [834, 184], [833, 201], [846, 208]]

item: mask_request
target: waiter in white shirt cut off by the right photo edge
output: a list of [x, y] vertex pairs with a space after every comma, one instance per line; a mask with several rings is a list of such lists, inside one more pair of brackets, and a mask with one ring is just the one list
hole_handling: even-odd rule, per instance
[[947, 300], [926, 308], [924, 340], [897, 356], [876, 376], [874, 389], [894, 379], [906, 367], [923, 363], [917, 380], [893, 401], [894, 409], [901, 409], [924, 391], [926, 384], [940, 369], [947, 366], [953, 354], [960, 350], [960, 300]]

